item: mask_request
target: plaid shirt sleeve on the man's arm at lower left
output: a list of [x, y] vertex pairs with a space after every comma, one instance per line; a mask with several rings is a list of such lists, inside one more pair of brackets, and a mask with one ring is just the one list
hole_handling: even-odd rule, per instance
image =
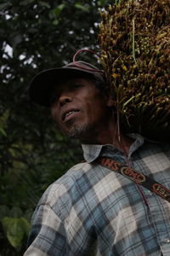
[[53, 209], [44, 204], [37, 207], [31, 221], [31, 234], [24, 256], [67, 255], [65, 227]]

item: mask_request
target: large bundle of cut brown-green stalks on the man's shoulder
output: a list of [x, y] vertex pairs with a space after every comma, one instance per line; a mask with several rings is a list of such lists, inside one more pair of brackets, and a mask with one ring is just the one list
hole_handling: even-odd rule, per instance
[[123, 0], [101, 17], [100, 62], [120, 125], [170, 137], [170, 1]]

